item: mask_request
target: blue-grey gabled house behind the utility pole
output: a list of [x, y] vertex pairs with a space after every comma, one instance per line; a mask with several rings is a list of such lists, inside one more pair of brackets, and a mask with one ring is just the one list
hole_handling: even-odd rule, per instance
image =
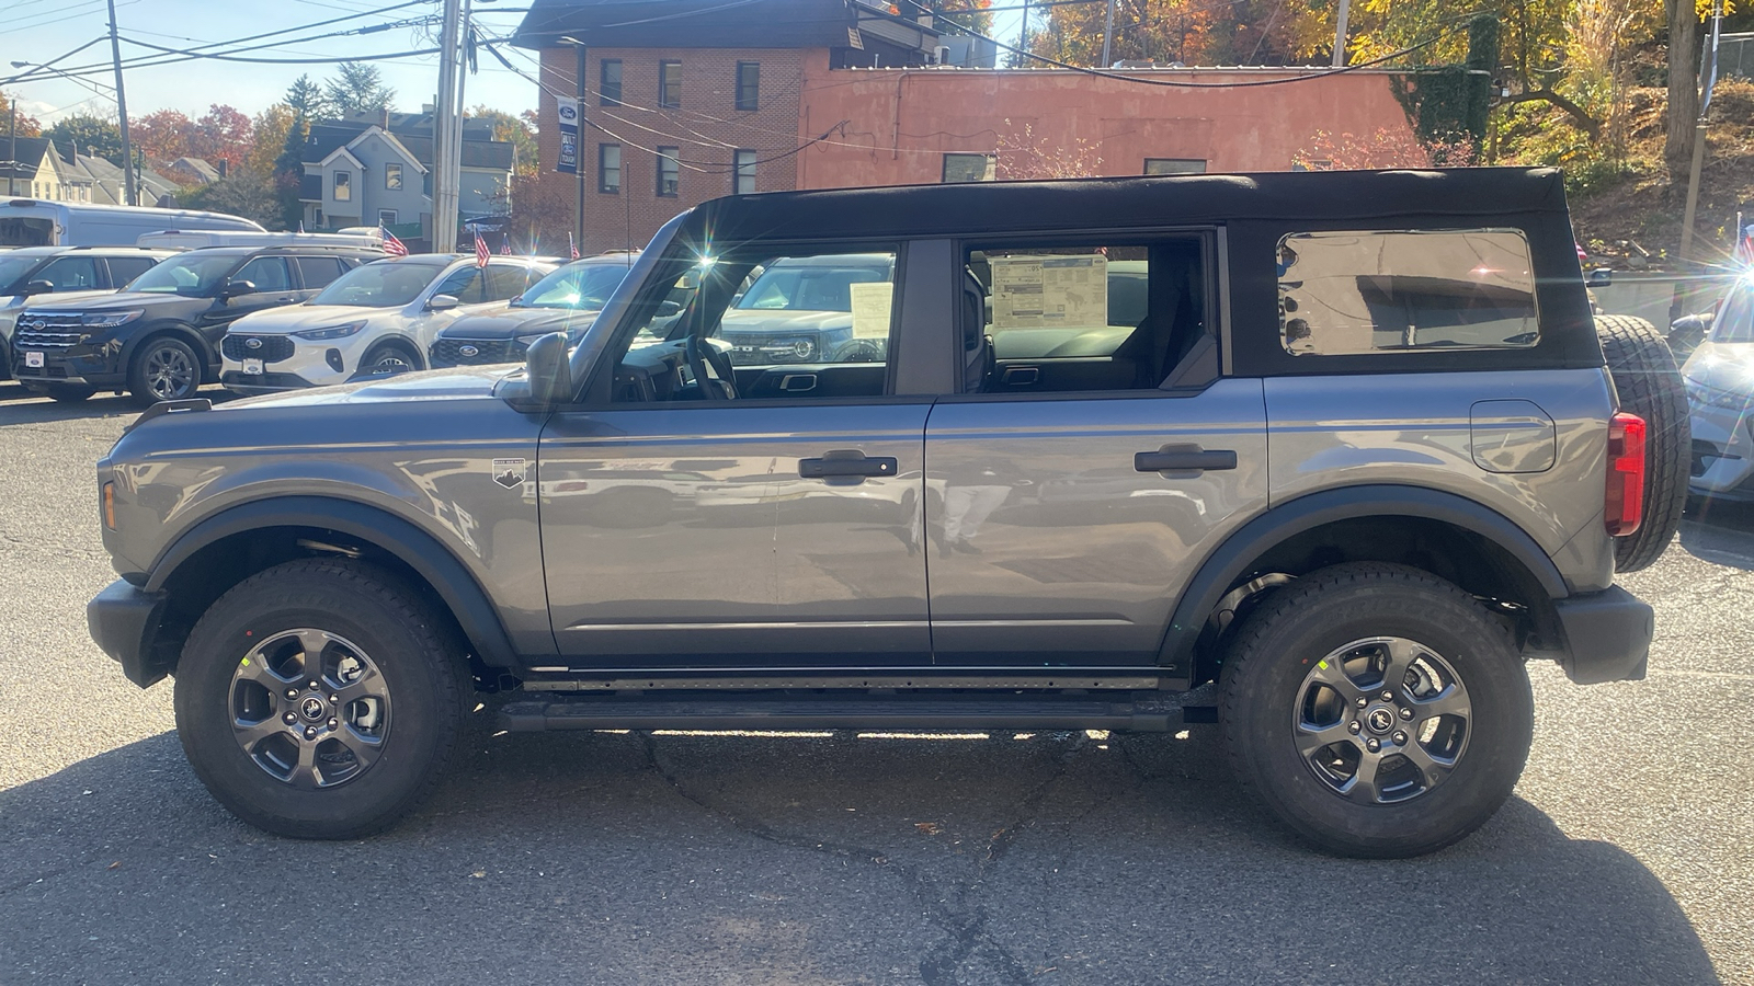
[[[430, 109], [316, 123], [303, 163], [300, 200], [307, 230], [388, 226], [403, 240], [430, 240]], [[460, 219], [503, 216], [510, 209], [514, 167], [512, 146], [493, 139], [489, 121], [465, 121]]]

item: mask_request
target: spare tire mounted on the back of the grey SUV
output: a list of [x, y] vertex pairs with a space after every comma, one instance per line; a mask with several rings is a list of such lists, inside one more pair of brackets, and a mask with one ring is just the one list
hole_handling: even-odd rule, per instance
[[1596, 316], [1596, 335], [1607, 358], [1621, 411], [1645, 419], [1645, 502], [1638, 530], [1614, 539], [1614, 567], [1649, 568], [1668, 549], [1687, 502], [1693, 461], [1693, 425], [1687, 388], [1668, 340], [1649, 321], [1633, 316]]

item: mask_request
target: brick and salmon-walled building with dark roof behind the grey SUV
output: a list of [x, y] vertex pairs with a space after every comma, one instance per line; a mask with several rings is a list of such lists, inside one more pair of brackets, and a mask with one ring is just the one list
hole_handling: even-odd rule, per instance
[[584, 93], [586, 253], [733, 193], [1275, 172], [1317, 133], [1410, 137], [1393, 72], [958, 67], [966, 39], [873, 0], [533, 0], [516, 42], [540, 61], [544, 167], [558, 98]]

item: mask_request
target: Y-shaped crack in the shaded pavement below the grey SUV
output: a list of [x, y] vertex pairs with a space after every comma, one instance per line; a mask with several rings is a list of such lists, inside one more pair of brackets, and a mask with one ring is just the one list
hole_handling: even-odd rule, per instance
[[[900, 874], [909, 884], [914, 897], [930, 914], [931, 921], [945, 933], [945, 940], [935, 946], [924, 958], [919, 960], [919, 977], [926, 986], [951, 986], [956, 982], [956, 972], [968, 961], [972, 954], [982, 949], [991, 956], [989, 961], [995, 970], [1010, 984], [1026, 984], [1035, 979], [1035, 972], [1028, 963], [1019, 960], [1010, 953], [1010, 949], [995, 939], [988, 932], [989, 914], [986, 907], [979, 904], [970, 904], [968, 897], [979, 891], [986, 882], [991, 868], [1005, 858], [1005, 853], [1014, 844], [1017, 833], [1033, 823], [1037, 812], [1040, 812], [1042, 802], [1047, 800], [1049, 790], [1066, 777], [1072, 761], [1084, 751], [1086, 739], [1082, 733], [1070, 744], [1070, 747], [1058, 754], [1058, 763], [1052, 775], [1031, 788], [1017, 800], [1016, 809], [1012, 809], [1014, 819], [1000, 826], [988, 839], [988, 851], [975, 861], [975, 875], [968, 881], [951, 881], [951, 888], [940, 893], [938, 888], [930, 881], [919, 868], [889, 860], [886, 853], [870, 849], [865, 846], [852, 846], [844, 842], [833, 842], [826, 839], [796, 837], [779, 832], [768, 825], [744, 818], [742, 814], [717, 805], [698, 795], [677, 777], [675, 770], [663, 763], [658, 751], [658, 742], [649, 732], [635, 733], [645, 747], [645, 760], [652, 772], [682, 800], [693, 804], [700, 811], [723, 819], [731, 828], [770, 842], [774, 846], [782, 846], [788, 849], [803, 849], [807, 853], [828, 853], [840, 858], [863, 858], [873, 865], [884, 867]], [[1087, 812], [1086, 812], [1087, 814]]]

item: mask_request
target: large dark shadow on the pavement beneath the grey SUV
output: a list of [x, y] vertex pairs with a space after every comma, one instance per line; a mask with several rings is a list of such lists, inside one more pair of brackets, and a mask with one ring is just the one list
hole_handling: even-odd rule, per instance
[[317, 844], [163, 733], [0, 791], [0, 981], [1717, 982], [1642, 863], [1524, 800], [1333, 860], [1214, 754], [481, 732], [405, 825]]

